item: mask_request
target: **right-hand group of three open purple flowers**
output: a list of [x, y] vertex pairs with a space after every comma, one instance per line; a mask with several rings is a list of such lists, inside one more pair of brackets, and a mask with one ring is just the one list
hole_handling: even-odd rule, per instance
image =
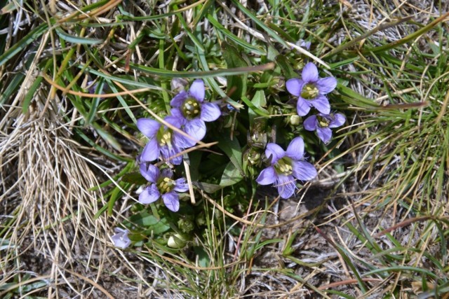
[[[326, 95], [337, 86], [333, 77], [319, 78], [315, 64], [309, 62], [302, 69], [302, 78], [291, 78], [286, 88], [291, 95], [297, 97], [296, 111], [299, 116], [307, 116], [311, 107], [318, 114], [304, 120], [304, 129], [316, 131], [319, 139], [328, 143], [332, 137], [332, 127], [340, 127], [345, 118], [340, 113], [330, 113], [330, 104]], [[295, 180], [309, 181], [316, 176], [314, 165], [304, 161], [304, 141], [296, 137], [283, 151], [277, 144], [267, 144], [265, 156], [270, 166], [263, 169], [256, 181], [260, 185], [275, 183], [282, 198], [291, 197], [295, 193]]]

